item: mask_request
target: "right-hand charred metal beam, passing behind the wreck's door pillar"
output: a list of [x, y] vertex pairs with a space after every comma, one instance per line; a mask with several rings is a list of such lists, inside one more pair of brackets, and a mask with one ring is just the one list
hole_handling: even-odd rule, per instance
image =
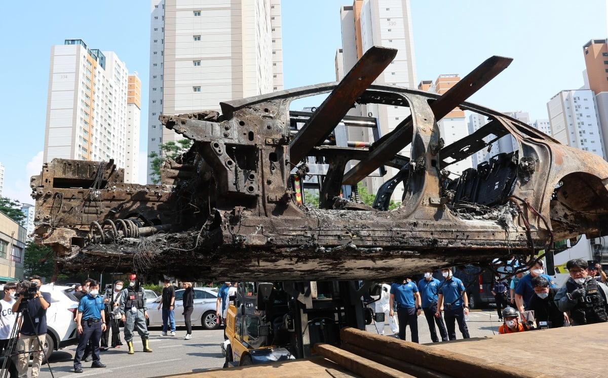
[[[465, 101], [492, 80], [492, 78], [500, 74], [511, 64], [511, 61], [513, 61], [512, 58], [494, 55], [494, 57], [488, 58], [472, 70], [470, 74], [466, 75], [445, 94], [430, 104], [435, 119], [442, 119], [461, 102]], [[359, 162], [344, 175], [344, 184], [356, 185], [368, 174], [401, 151], [402, 148], [412, 143], [412, 136], [412, 117], [407, 117], [392, 132], [389, 132], [389, 134], [386, 134], [374, 143], [376, 148], [372, 149], [367, 158]]]

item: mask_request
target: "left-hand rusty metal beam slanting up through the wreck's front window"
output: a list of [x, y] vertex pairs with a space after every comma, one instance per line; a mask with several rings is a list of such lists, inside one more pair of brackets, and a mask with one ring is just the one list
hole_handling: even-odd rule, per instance
[[396, 55], [396, 49], [379, 46], [372, 46], [365, 52], [291, 141], [289, 144], [291, 163], [298, 163], [311, 148], [325, 140], [353, 107], [359, 95], [365, 92]]

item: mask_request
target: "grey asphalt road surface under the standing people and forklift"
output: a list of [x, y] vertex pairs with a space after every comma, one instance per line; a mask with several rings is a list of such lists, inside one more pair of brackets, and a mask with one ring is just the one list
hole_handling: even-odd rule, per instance
[[[471, 337], [483, 337], [497, 333], [500, 326], [496, 310], [471, 311], [468, 328]], [[373, 325], [367, 326], [368, 331], [376, 332]], [[176, 337], [161, 337], [161, 328], [150, 328], [151, 353], [142, 352], [142, 343], [139, 337], [134, 339], [135, 354], [126, 353], [126, 344], [120, 349], [110, 349], [101, 352], [102, 362], [107, 368], [91, 368], [91, 363], [83, 363], [84, 372], [74, 373], [74, 352], [76, 346], [69, 346], [54, 352], [51, 356], [50, 367], [55, 378], [59, 377], [88, 377], [103, 374], [128, 378], [145, 378], [164, 376], [169, 374], [188, 373], [191, 371], [204, 371], [210, 368], [221, 368], [224, 357], [221, 354], [220, 344], [223, 342], [223, 331], [206, 331], [200, 326], [195, 327], [192, 338], [184, 340], [185, 328], [178, 327]], [[385, 322], [385, 334], [390, 334], [388, 322]], [[430, 343], [429, 327], [424, 315], [418, 317], [418, 335], [421, 343]], [[460, 331], [456, 331], [457, 338], [462, 338]], [[410, 340], [410, 330], [407, 330], [407, 340]], [[31, 369], [31, 368], [30, 368]], [[41, 378], [52, 377], [47, 365], [40, 371]]]

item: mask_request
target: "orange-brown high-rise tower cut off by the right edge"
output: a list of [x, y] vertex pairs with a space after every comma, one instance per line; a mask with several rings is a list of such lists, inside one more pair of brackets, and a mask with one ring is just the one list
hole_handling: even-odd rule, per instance
[[602, 145], [608, 150], [608, 40], [590, 40], [582, 46], [589, 89], [595, 96], [595, 106], [602, 131]]

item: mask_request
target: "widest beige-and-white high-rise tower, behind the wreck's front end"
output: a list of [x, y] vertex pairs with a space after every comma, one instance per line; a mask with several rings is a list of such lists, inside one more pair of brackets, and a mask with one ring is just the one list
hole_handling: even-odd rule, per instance
[[181, 139], [162, 128], [163, 113], [282, 89], [280, 0], [151, 1], [148, 154]]

